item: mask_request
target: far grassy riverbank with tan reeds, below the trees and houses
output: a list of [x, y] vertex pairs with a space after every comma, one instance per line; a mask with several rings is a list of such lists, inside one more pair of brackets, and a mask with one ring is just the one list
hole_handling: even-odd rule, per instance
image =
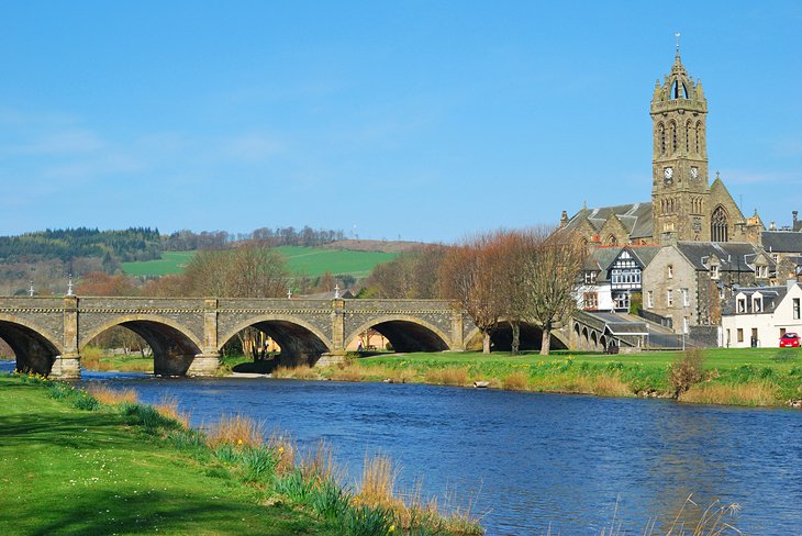
[[[497, 389], [670, 397], [669, 367], [681, 353], [552, 356], [495, 353], [405, 354], [350, 359], [338, 367], [280, 369], [279, 377], [342, 381], [394, 381]], [[795, 348], [712, 348], [703, 351], [702, 380], [681, 401], [781, 406], [802, 400], [802, 351]]]

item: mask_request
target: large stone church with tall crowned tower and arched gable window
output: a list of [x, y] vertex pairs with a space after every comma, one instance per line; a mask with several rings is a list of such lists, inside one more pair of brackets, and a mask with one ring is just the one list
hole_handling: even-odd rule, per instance
[[566, 211], [560, 228], [589, 246], [670, 245], [678, 242], [759, 244], [765, 226], [746, 217], [716, 174], [710, 183], [708, 100], [688, 74], [679, 46], [671, 71], [651, 96], [651, 202]]

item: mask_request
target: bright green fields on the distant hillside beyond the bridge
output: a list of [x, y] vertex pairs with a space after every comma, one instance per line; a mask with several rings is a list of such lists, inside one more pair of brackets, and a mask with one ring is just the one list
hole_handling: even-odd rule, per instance
[[[350, 273], [357, 279], [367, 277], [376, 265], [388, 263], [398, 255], [300, 246], [280, 246], [276, 249], [287, 260], [287, 267], [292, 273], [319, 277], [330, 271], [335, 276]], [[194, 252], [165, 252], [158, 260], [123, 263], [123, 271], [129, 276], [181, 273], [193, 256]]]

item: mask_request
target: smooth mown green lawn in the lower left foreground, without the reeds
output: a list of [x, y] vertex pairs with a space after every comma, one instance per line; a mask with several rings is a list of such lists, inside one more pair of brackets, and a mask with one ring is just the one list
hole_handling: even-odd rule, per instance
[[2, 534], [338, 534], [281, 502], [260, 505], [259, 489], [120, 412], [81, 411], [45, 392], [0, 378]]

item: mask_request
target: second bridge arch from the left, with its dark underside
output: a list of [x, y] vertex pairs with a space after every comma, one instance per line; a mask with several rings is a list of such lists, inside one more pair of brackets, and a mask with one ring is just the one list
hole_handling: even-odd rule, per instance
[[186, 376], [203, 343], [186, 326], [155, 314], [125, 314], [103, 322], [81, 335], [78, 348], [115, 326], [131, 330], [145, 339], [153, 350], [153, 371], [157, 376]]

